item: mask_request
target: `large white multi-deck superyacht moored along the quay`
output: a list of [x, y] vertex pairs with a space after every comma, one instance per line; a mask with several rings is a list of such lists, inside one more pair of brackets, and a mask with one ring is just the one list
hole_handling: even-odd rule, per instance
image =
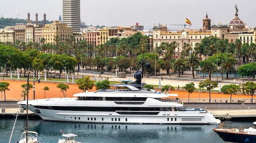
[[[117, 84], [74, 98], [29, 100], [29, 110], [44, 120], [120, 124], [220, 124], [204, 108], [184, 108], [169, 94]], [[18, 102], [19, 104], [20, 102]], [[27, 101], [20, 104], [26, 106]]]

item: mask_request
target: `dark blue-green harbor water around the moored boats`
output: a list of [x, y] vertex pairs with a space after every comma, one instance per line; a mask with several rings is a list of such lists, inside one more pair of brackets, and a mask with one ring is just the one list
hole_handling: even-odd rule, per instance
[[[0, 143], [8, 143], [15, 118], [0, 117]], [[255, 119], [243, 121], [223, 121], [230, 126], [249, 127]], [[26, 119], [18, 119], [11, 143], [20, 139], [26, 126]], [[29, 119], [29, 130], [38, 132], [45, 143], [57, 143], [61, 130], [77, 134], [81, 143], [224, 143], [213, 132], [218, 125], [178, 125], [178, 124], [90, 124]]]

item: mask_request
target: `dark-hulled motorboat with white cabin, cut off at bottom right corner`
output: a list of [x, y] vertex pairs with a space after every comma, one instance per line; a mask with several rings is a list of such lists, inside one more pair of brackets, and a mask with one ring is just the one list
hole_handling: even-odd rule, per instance
[[220, 127], [213, 128], [213, 131], [220, 136], [225, 143], [256, 143], [256, 121], [250, 128], [235, 127], [224, 128], [223, 124]]

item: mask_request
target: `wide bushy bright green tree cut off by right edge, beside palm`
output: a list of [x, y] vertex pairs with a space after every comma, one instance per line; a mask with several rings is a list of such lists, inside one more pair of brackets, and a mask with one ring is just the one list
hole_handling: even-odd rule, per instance
[[256, 63], [248, 63], [242, 66], [239, 66], [237, 72], [240, 76], [253, 76], [256, 73]]

